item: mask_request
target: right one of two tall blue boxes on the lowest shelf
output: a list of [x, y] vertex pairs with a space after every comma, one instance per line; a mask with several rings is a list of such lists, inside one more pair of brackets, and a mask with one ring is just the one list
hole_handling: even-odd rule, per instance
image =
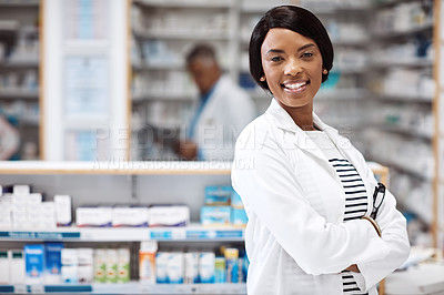
[[62, 269], [62, 248], [63, 243], [44, 244], [44, 276], [47, 283], [60, 283]]

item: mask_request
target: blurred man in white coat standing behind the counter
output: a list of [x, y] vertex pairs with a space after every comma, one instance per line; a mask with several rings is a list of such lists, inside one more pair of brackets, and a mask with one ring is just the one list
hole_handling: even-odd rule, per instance
[[178, 153], [184, 160], [231, 161], [238, 135], [256, 116], [254, 103], [222, 74], [212, 47], [195, 45], [186, 55], [186, 67], [200, 99]]

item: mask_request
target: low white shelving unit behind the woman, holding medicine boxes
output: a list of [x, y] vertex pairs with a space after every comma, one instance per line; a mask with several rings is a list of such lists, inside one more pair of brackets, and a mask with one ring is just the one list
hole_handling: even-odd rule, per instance
[[[234, 163], [249, 165], [249, 163]], [[33, 191], [48, 197], [58, 193], [72, 195], [72, 205], [88, 204], [164, 204], [185, 203], [191, 224], [184, 227], [56, 227], [0, 228], [3, 247], [26, 243], [63, 242], [75, 245], [134, 244], [158, 241], [164, 248], [206, 248], [214, 245], [242, 245], [244, 228], [233, 225], [203, 226], [199, 208], [204, 203], [206, 185], [230, 183], [229, 162], [0, 162], [0, 183], [31, 184]], [[389, 171], [370, 163], [380, 181], [386, 182]], [[171, 183], [174, 183], [172, 186]], [[1, 293], [63, 294], [246, 294], [245, 284], [60, 284], [0, 285]]]

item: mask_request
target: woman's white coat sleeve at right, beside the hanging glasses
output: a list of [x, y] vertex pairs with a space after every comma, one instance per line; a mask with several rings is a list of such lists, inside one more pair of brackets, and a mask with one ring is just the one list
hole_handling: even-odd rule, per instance
[[[367, 166], [362, 155], [360, 157], [361, 164]], [[376, 182], [370, 167], [366, 167], [365, 176], [372, 180], [372, 183]], [[401, 212], [396, 210], [395, 197], [389, 190], [385, 192], [385, 199], [377, 213], [376, 222], [382, 231], [382, 241], [389, 248], [389, 256], [369, 262], [356, 261], [364, 277], [364, 282], [362, 282], [364, 284], [359, 284], [361, 289], [369, 289], [390, 275], [404, 263], [410, 252], [406, 221]]]

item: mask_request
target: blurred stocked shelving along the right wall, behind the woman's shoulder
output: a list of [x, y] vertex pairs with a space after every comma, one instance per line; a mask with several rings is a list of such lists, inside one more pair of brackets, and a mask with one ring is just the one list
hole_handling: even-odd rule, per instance
[[365, 136], [366, 159], [391, 167], [391, 187], [401, 207], [427, 224], [432, 228], [430, 243], [442, 247], [431, 216], [438, 177], [433, 148], [437, 55], [433, 54], [436, 49], [432, 50], [432, 43], [438, 42], [434, 37], [438, 28], [434, 26], [437, 2], [402, 0], [375, 4], [369, 80], [374, 98], [370, 112], [374, 115]]

